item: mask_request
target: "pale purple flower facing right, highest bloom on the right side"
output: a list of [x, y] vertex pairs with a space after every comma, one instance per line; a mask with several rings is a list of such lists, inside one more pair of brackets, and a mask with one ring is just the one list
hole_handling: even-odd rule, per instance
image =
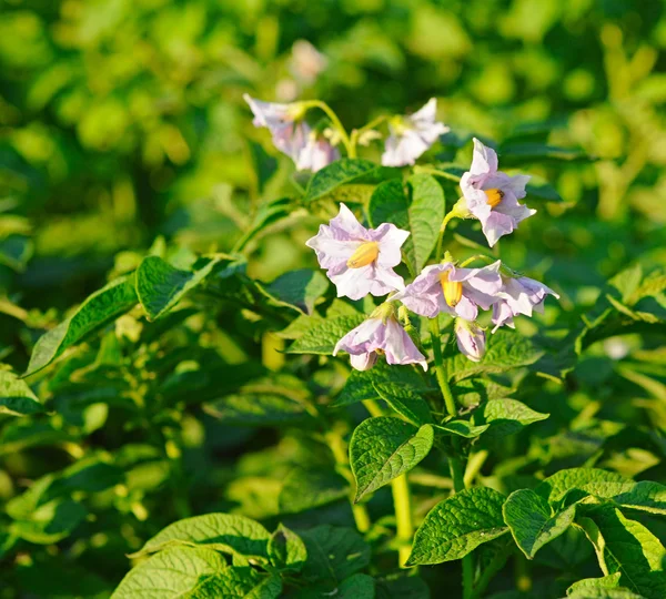
[[525, 197], [528, 175], [509, 176], [497, 170], [497, 153], [474, 139], [474, 158], [470, 171], [461, 179], [461, 189], [470, 212], [481, 221], [483, 233], [493, 247], [518, 223], [536, 213], [519, 204]]

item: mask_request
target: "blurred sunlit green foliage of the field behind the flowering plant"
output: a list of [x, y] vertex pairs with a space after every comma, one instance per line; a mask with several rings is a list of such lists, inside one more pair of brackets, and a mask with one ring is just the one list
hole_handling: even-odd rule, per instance
[[[302, 40], [325, 57], [315, 77]], [[543, 354], [515, 363], [538, 367], [497, 384], [551, 417], [484, 441], [480, 476], [506, 495], [583, 466], [665, 483], [665, 49], [658, 0], [3, 2], [0, 597], [108, 597], [128, 555], [200, 514], [271, 531], [354, 527], [344, 478], [321, 480], [334, 467], [325, 432], [349, 439], [366, 417], [361, 404], [330, 407], [352, 404], [347, 363], [284, 353], [303, 314], [333, 305], [304, 242], [334, 212], [299, 201], [281, 212], [306, 179], [252, 126], [243, 93], [319, 98], [349, 128], [434, 97], [452, 128], [434, 161], [467, 164], [476, 135], [537, 187], [549, 182], [500, 255], [561, 300], [517, 322]], [[364, 190], [346, 193], [336, 200]], [[483, 240], [467, 222], [454, 234], [460, 255]], [[139, 288], [143, 307], [118, 285], [105, 328], [37, 367], [37, 339], [108, 282], [138, 267], [147, 294], [172, 282], [145, 256], [201, 271], [239, 246], [241, 283], [228, 265], [178, 305]], [[31, 355], [34, 396], [21, 387], [17, 402]], [[327, 428], [315, 430], [305, 398]], [[418, 520], [451, 480], [434, 456], [413, 473]], [[389, 490], [367, 507], [372, 562], [349, 573], [380, 576], [396, 566]], [[663, 520], [637, 518], [666, 538]], [[420, 575], [435, 597], [458, 592], [458, 562]], [[572, 532], [533, 561], [512, 557], [492, 589], [561, 597], [598, 576]]]

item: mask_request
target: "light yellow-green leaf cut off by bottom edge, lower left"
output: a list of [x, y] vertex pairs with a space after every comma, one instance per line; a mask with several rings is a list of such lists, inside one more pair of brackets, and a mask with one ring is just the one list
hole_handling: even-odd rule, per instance
[[221, 573], [224, 567], [224, 558], [212, 549], [172, 547], [131, 569], [111, 597], [112, 599], [181, 597], [194, 599], [196, 589], [211, 577]]

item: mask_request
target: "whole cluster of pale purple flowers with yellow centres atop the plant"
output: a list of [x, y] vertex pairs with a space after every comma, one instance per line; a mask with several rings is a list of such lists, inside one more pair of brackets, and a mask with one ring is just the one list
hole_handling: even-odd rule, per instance
[[[353, 132], [351, 138], [344, 130], [337, 135], [317, 133], [305, 122], [304, 115], [311, 105], [330, 110], [320, 102], [272, 104], [250, 97], [245, 100], [254, 113], [254, 124], [270, 130], [275, 146], [291, 156], [299, 170], [317, 171], [337, 160], [340, 152], [334, 146], [335, 141], [343, 140], [351, 153], [350, 149], [355, 152], [356, 142], [363, 144], [364, 139], [379, 136], [373, 130], [375, 121]], [[413, 165], [448, 131], [436, 120], [436, 101], [432, 99], [412, 115], [387, 120], [383, 165]], [[452, 217], [476, 219], [488, 245], [494, 246], [500, 237], [535, 214], [535, 210], [518, 202], [526, 195], [528, 180], [526, 175], [511, 176], [500, 171], [496, 152], [474, 139], [472, 164], [460, 180], [463, 195], [444, 219], [442, 232]], [[340, 204], [337, 216], [327, 225], [321, 225], [319, 233], [306, 242], [326, 270], [339, 297], [361, 300], [369, 294], [389, 295], [364, 323], [335, 346], [333, 355], [346, 352], [352, 366], [359, 370], [372, 368], [379, 355], [384, 355], [389, 364], [418, 364], [427, 369], [418, 341], [405, 329], [405, 326], [411, 327], [407, 311], [427, 318], [450, 315], [460, 351], [478, 362], [486, 348], [485, 329], [477, 323], [480, 311], [492, 311], [494, 333], [501, 326], [513, 327], [514, 317], [519, 314], [532, 316], [534, 311], [542, 312], [547, 295], [558, 297], [546, 285], [514, 273], [501, 261], [481, 268], [466, 268], [448, 252], [443, 258], [436, 256], [436, 264], [425, 266], [405, 285], [394, 268], [402, 262], [401, 247], [408, 236], [410, 232], [391, 223], [367, 229], [346, 205]], [[400, 311], [398, 303], [404, 306]]]

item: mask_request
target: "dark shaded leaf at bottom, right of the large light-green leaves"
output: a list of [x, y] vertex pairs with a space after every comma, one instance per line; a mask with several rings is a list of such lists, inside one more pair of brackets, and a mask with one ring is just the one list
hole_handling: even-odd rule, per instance
[[301, 577], [337, 586], [370, 564], [370, 546], [355, 530], [322, 525], [299, 531], [307, 550]]

